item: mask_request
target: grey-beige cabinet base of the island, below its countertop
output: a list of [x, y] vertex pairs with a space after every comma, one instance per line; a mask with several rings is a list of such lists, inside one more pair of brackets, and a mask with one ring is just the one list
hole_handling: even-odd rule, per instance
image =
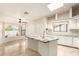
[[28, 48], [39, 52], [42, 56], [57, 55], [57, 40], [43, 42], [37, 39], [28, 39]]

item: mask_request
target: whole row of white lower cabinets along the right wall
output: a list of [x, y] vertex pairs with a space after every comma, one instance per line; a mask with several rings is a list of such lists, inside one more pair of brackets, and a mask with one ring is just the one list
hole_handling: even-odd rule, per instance
[[79, 48], [79, 37], [60, 36], [58, 40], [58, 44]]

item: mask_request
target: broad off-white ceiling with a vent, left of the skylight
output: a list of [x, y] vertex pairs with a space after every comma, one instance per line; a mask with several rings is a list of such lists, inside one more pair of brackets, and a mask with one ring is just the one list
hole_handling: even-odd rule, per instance
[[[18, 22], [38, 19], [50, 13], [48, 3], [0, 3], [0, 21]], [[24, 14], [28, 12], [28, 14]]]

